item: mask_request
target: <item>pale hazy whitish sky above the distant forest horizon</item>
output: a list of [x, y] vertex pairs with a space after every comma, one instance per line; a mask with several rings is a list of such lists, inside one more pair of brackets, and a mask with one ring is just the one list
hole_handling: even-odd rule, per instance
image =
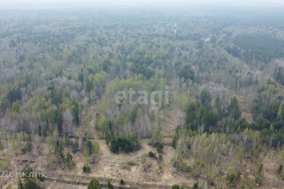
[[171, 6], [190, 5], [244, 5], [244, 6], [283, 6], [283, 0], [0, 0], [0, 9], [54, 9], [78, 7], [115, 7], [115, 6]]

